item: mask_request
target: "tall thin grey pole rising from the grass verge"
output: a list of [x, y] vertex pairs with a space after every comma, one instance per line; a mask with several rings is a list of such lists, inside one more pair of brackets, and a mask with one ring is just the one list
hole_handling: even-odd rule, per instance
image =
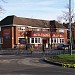
[[72, 25], [71, 25], [71, 0], [69, 0], [69, 27], [70, 27], [70, 55], [72, 55]]

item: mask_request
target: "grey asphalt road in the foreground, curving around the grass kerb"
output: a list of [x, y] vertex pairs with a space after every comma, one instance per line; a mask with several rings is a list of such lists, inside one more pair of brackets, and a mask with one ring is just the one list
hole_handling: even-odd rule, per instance
[[45, 63], [42, 58], [0, 55], [0, 75], [75, 75], [75, 69]]

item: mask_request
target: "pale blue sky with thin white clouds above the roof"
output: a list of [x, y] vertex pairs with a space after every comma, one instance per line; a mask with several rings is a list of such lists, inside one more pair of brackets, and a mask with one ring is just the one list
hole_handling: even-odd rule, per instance
[[[5, 9], [4, 14], [0, 15], [0, 20], [9, 15], [18, 17], [57, 20], [62, 11], [67, 10], [69, 0], [5, 0], [7, 3], [0, 2]], [[72, 8], [75, 8], [75, 0], [72, 0]]]

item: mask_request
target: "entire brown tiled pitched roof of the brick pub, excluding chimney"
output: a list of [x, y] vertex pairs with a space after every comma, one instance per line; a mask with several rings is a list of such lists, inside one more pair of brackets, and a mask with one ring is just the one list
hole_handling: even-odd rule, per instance
[[[52, 22], [52, 23], [51, 23]], [[16, 25], [28, 25], [28, 26], [34, 26], [34, 27], [50, 27], [51, 25], [55, 25], [56, 28], [64, 28], [62, 24], [59, 24], [57, 21], [48, 21], [48, 20], [39, 20], [39, 19], [32, 19], [32, 18], [22, 18], [17, 17], [15, 15], [7, 16], [3, 20], [0, 21], [1, 26], [10, 25], [13, 24]]]

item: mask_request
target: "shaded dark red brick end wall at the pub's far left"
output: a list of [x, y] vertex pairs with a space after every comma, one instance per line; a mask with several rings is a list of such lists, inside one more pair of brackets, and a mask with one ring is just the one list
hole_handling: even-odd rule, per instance
[[3, 48], [12, 47], [12, 27], [2, 27]]

